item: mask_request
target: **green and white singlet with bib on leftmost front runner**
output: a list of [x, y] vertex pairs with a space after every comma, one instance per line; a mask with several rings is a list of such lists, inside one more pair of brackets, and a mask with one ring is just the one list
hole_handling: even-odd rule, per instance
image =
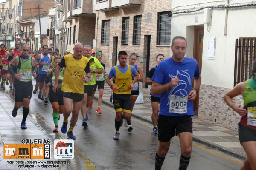
[[17, 66], [17, 74], [21, 74], [22, 77], [20, 81], [29, 82], [32, 81], [32, 65], [31, 65], [32, 57], [29, 56], [27, 61], [23, 61], [19, 56], [19, 64]]

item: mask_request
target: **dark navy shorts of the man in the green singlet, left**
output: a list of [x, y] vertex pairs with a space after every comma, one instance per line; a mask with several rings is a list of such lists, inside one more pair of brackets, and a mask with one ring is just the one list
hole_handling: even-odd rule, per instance
[[32, 81], [22, 82], [15, 78], [14, 80], [14, 98], [15, 102], [23, 102], [24, 98], [31, 99], [33, 91]]

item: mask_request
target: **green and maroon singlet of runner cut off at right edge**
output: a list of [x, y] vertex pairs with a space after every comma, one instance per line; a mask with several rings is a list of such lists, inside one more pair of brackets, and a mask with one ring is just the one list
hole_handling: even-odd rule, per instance
[[[249, 113], [250, 110], [256, 109], [256, 89], [252, 88], [252, 86], [250, 85], [250, 79], [248, 79], [245, 83], [246, 83], [246, 86], [245, 86], [245, 91], [243, 94], [244, 109], [246, 109]], [[241, 117], [240, 123], [249, 128], [256, 129], [256, 126], [250, 125], [250, 123], [255, 124], [255, 122], [247, 121], [247, 119], [250, 118], [248, 113], [245, 116]], [[252, 117], [255, 117], [255, 116], [253, 116], [253, 113], [252, 113]]]

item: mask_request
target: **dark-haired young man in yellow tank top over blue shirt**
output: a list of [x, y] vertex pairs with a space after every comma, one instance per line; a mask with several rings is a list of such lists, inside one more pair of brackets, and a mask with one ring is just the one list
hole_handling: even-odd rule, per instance
[[[118, 60], [120, 65], [112, 67], [106, 79], [112, 89], [113, 105], [116, 111], [116, 133], [113, 137], [114, 140], [119, 140], [122, 118], [126, 120], [131, 119], [131, 90], [139, 77], [139, 73], [134, 66], [127, 64], [127, 53], [125, 51], [118, 53]], [[133, 82], [131, 80], [132, 75], [135, 75]], [[112, 77], [115, 80], [114, 83], [110, 80]]]

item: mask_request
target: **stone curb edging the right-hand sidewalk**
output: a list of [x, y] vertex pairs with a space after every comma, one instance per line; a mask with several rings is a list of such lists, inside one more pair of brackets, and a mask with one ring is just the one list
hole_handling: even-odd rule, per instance
[[[95, 99], [95, 100], [98, 100], [98, 97], [94, 96], [94, 99]], [[113, 108], [113, 104], [112, 104], [111, 102], [107, 102], [107, 101], [105, 101], [105, 100], [102, 100], [102, 103], [103, 103], [104, 105], [108, 105], [109, 107], [112, 107], [112, 108]], [[152, 124], [152, 121], [151, 121], [150, 119], [144, 118], [143, 116], [138, 116], [138, 115], [136, 115], [136, 113], [131, 114], [131, 116], [134, 117], [134, 118], [136, 118], [136, 119], [140, 119], [140, 120], [142, 120], [143, 122], [148, 122], [148, 123]], [[238, 158], [238, 159], [245, 160], [245, 159], [247, 158], [247, 156], [246, 156], [245, 154], [243, 154], [243, 153], [239, 153], [239, 152], [236, 151], [236, 150], [232, 150], [232, 149], [230, 149], [230, 148], [223, 147], [223, 146], [221, 146], [221, 145], [219, 145], [219, 144], [215, 144], [215, 143], [210, 142], [210, 141], [208, 141], [208, 140], [206, 140], [206, 139], [204, 139], [204, 138], [201, 138], [201, 137], [199, 137], [199, 136], [193, 136], [193, 141], [198, 142], [198, 143], [200, 143], [200, 144], [204, 144], [204, 145], [206, 145], [206, 146], [208, 146], [208, 147], [211, 147], [211, 148], [213, 148], [213, 149], [219, 150], [219, 151], [221, 151], [221, 152], [223, 152], [223, 153], [227, 153], [227, 154], [229, 154], [229, 155], [231, 155], [231, 156], [234, 156], [234, 157], [236, 157], [236, 158]]]

